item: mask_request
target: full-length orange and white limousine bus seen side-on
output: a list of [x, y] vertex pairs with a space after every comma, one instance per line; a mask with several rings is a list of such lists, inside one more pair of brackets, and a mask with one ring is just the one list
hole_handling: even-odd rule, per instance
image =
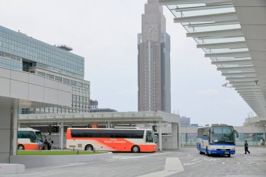
[[157, 145], [151, 129], [69, 128], [66, 148], [139, 153], [155, 152]]

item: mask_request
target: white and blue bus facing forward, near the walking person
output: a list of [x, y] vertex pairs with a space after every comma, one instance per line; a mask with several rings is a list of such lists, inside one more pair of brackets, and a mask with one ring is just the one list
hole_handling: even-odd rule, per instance
[[235, 136], [238, 132], [226, 124], [210, 124], [197, 129], [197, 150], [200, 154], [235, 154]]

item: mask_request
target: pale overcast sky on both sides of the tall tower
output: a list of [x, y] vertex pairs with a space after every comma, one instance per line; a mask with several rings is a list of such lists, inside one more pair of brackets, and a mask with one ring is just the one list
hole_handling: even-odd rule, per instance
[[[2, 0], [0, 25], [85, 57], [99, 108], [137, 111], [137, 34], [146, 0]], [[242, 125], [251, 108], [164, 8], [171, 36], [172, 113], [192, 123]]]

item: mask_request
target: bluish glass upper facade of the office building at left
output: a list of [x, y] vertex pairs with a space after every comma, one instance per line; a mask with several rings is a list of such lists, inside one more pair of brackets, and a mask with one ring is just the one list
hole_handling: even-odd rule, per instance
[[18, 70], [23, 67], [27, 71], [29, 66], [36, 64], [66, 76], [84, 78], [84, 57], [1, 26], [0, 51], [0, 66]]

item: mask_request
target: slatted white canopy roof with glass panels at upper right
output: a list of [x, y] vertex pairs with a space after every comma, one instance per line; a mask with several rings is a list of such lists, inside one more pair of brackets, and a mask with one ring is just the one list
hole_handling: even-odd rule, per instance
[[159, 0], [246, 103], [266, 120], [266, 1]]

